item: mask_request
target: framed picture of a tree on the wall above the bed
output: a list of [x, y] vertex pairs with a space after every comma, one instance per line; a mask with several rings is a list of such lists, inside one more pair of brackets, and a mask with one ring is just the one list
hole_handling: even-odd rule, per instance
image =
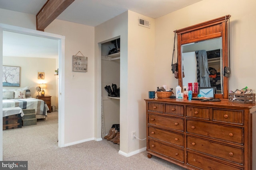
[[3, 66], [3, 86], [20, 87], [20, 67]]

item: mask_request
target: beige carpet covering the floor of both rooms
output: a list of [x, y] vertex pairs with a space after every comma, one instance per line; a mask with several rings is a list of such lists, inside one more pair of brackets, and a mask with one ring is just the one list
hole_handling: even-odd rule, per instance
[[27, 160], [28, 170], [185, 170], [146, 151], [125, 157], [110, 141], [88, 141], [58, 148], [58, 112], [37, 125], [3, 131], [3, 160]]

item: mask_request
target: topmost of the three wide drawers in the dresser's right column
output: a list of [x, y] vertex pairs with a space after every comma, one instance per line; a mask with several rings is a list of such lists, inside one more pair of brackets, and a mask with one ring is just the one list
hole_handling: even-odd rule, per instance
[[187, 120], [187, 132], [243, 144], [243, 128]]

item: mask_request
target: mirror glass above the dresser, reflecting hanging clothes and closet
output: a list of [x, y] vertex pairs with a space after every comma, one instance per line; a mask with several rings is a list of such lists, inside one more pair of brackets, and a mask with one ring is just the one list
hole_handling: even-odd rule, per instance
[[222, 37], [182, 45], [183, 86], [198, 82], [223, 94]]

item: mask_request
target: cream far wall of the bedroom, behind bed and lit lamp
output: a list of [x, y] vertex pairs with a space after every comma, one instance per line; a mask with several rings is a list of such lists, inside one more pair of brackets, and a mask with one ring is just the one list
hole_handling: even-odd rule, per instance
[[[36, 87], [39, 84], [47, 84], [45, 95], [52, 96], [52, 106], [56, 106], [56, 79], [54, 70], [56, 69], [56, 59], [33, 58], [33, 57], [3, 57], [3, 65], [20, 67], [20, 88], [30, 86], [32, 98], [36, 98], [38, 92]], [[38, 79], [38, 72], [44, 72], [44, 79]], [[19, 88], [19, 87], [3, 87]], [[41, 95], [39, 93], [39, 95]]]

